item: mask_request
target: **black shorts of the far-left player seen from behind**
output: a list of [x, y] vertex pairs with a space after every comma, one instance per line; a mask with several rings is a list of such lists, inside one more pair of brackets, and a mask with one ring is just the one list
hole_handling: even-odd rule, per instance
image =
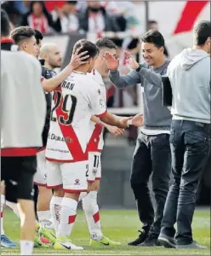
[[33, 200], [33, 177], [37, 169], [36, 156], [2, 156], [1, 180], [5, 184], [7, 201]]

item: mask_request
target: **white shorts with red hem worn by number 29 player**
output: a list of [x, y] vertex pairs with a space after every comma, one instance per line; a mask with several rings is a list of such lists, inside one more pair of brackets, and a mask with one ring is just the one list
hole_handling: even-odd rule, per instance
[[63, 187], [67, 193], [87, 192], [88, 160], [71, 163], [58, 163], [47, 160], [46, 166], [48, 189]]

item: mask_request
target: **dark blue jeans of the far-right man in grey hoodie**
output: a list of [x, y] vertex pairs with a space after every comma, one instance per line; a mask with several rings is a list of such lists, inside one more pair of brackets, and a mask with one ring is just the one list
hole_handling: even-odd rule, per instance
[[191, 223], [196, 207], [197, 188], [208, 163], [210, 125], [173, 120], [170, 131], [173, 184], [164, 207], [161, 233], [175, 236], [178, 245], [192, 242]]

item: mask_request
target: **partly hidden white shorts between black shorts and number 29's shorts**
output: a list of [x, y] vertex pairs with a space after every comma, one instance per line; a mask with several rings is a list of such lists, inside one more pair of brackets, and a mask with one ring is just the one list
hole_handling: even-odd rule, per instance
[[37, 152], [37, 172], [34, 175], [34, 183], [38, 186], [46, 187], [46, 159], [45, 150]]

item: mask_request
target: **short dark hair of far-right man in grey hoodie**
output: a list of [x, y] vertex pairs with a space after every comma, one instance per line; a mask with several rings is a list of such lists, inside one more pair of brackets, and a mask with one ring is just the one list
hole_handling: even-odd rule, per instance
[[193, 27], [194, 43], [196, 45], [203, 45], [209, 37], [211, 37], [211, 21], [198, 21]]

